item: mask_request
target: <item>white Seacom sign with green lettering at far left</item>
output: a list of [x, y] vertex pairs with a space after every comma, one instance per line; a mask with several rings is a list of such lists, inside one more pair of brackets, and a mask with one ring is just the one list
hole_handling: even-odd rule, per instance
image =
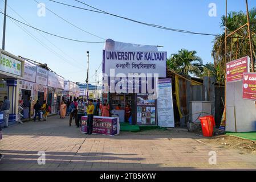
[[0, 71], [22, 76], [22, 62], [1, 52]]

